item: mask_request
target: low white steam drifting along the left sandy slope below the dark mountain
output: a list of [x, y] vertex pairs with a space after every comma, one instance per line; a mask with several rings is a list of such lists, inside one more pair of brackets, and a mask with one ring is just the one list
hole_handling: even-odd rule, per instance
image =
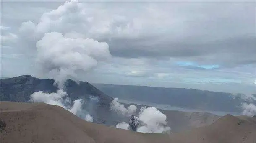
[[58, 90], [57, 93], [44, 93], [42, 91], [34, 92], [30, 95], [31, 102], [44, 102], [46, 104], [57, 105], [72, 112], [78, 117], [84, 118], [84, 120], [92, 122], [91, 115], [84, 113], [82, 105], [84, 100], [77, 99], [71, 104], [71, 99], [67, 97], [67, 93], [63, 90]]

